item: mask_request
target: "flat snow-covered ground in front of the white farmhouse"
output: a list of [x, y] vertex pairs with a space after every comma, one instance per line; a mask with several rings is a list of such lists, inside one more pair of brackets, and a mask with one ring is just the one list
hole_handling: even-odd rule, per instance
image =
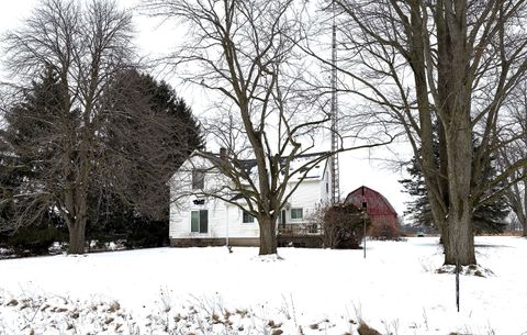
[[527, 334], [527, 239], [478, 237], [486, 278], [436, 273], [434, 237], [362, 250], [157, 248], [0, 260], [0, 334]]

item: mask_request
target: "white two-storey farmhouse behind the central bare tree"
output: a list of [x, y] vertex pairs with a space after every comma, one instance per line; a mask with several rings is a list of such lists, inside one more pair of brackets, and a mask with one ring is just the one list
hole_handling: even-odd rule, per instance
[[[322, 155], [327, 155], [327, 153], [301, 155], [294, 158], [290, 169], [296, 169], [305, 161], [322, 157]], [[221, 159], [221, 154], [213, 157]], [[277, 222], [279, 244], [295, 243], [310, 246], [319, 241], [319, 238], [313, 238], [319, 237], [319, 230], [310, 225], [309, 221], [310, 215], [316, 209], [330, 201], [332, 169], [329, 159], [332, 158], [316, 164], [303, 180], [299, 181], [300, 178], [294, 178], [288, 183], [288, 187], [292, 188], [300, 182], [281, 210]], [[249, 174], [256, 175], [251, 170], [256, 163], [254, 160], [244, 163]], [[170, 181], [172, 202], [169, 235], [171, 246], [259, 245], [259, 227], [255, 217], [239, 206], [222, 199], [200, 196], [211, 190], [221, 190], [221, 198], [236, 200], [238, 194], [228, 183], [227, 178], [222, 176], [214, 168], [214, 164], [206, 158], [192, 155], [183, 163]], [[228, 191], [225, 191], [226, 188]], [[239, 203], [242, 204], [242, 202]]]

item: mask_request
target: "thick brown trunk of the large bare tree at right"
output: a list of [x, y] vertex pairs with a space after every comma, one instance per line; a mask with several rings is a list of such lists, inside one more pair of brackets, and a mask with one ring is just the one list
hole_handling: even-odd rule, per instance
[[[472, 227], [472, 120], [467, 42], [467, 1], [438, 1], [438, 94], [435, 105], [440, 121], [439, 164], [445, 174], [446, 205], [442, 242], [445, 265], [475, 264]], [[445, 178], [444, 177], [444, 178]]]

